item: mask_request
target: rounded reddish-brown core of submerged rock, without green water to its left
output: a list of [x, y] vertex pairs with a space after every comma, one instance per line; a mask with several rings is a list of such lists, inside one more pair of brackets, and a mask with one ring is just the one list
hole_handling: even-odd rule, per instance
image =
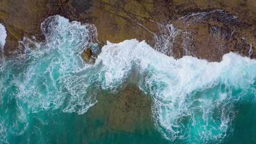
[[151, 124], [152, 99], [136, 86], [128, 86], [117, 94], [110, 107], [112, 129], [134, 133]]

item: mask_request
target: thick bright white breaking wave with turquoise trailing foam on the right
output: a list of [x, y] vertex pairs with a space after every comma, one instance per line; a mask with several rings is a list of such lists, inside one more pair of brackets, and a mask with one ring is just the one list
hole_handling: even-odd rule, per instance
[[220, 63], [175, 60], [133, 39], [104, 46], [100, 61], [108, 87], [137, 68], [137, 85], [154, 98], [155, 126], [172, 141], [221, 141], [232, 131], [238, 101], [256, 95], [256, 60], [235, 53]]

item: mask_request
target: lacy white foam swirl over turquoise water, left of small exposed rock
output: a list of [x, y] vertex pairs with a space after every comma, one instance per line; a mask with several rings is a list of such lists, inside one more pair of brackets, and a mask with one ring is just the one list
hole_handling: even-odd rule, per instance
[[95, 104], [93, 94], [87, 91], [92, 75], [82, 75], [91, 66], [80, 56], [97, 35], [89, 32], [91, 27], [60, 16], [49, 17], [41, 24], [46, 44], [35, 44], [38, 51], [26, 45], [26, 57], [31, 62], [25, 63], [30, 67], [24, 74], [25, 81], [18, 84], [18, 97], [33, 112], [62, 108], [64, 112], [83, 114]]

